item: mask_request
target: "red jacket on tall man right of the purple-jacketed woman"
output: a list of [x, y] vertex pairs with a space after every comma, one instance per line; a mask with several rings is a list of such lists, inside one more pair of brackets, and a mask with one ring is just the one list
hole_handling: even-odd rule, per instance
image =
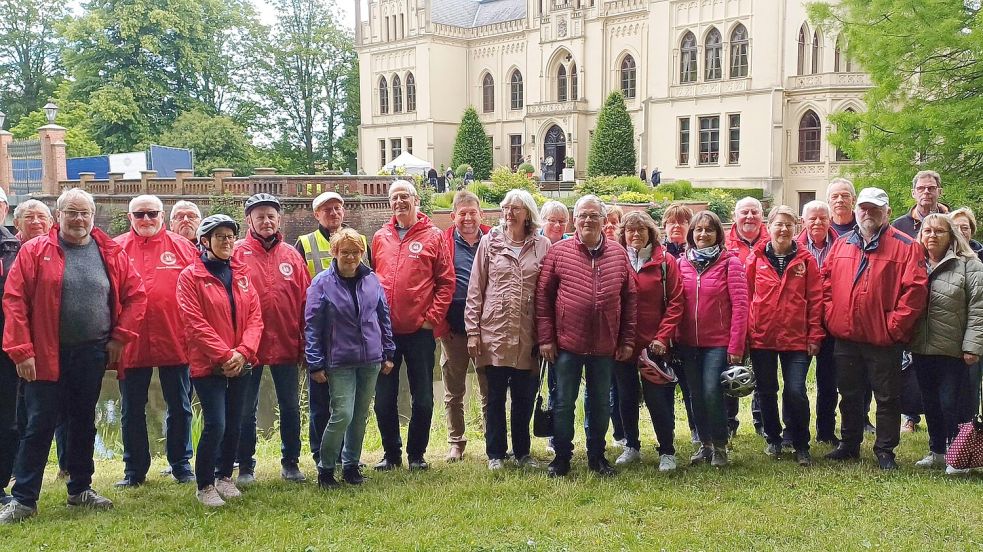
[[424, 322], [434, 337], [450, 331], [447, 309], [454, 298], [454, 259], [448, 258], [440, 229], [418, 213], [400, 240], [396, 217], [372, 237], [375, 272], [386, 291], [394, 334], [411, 334]]

